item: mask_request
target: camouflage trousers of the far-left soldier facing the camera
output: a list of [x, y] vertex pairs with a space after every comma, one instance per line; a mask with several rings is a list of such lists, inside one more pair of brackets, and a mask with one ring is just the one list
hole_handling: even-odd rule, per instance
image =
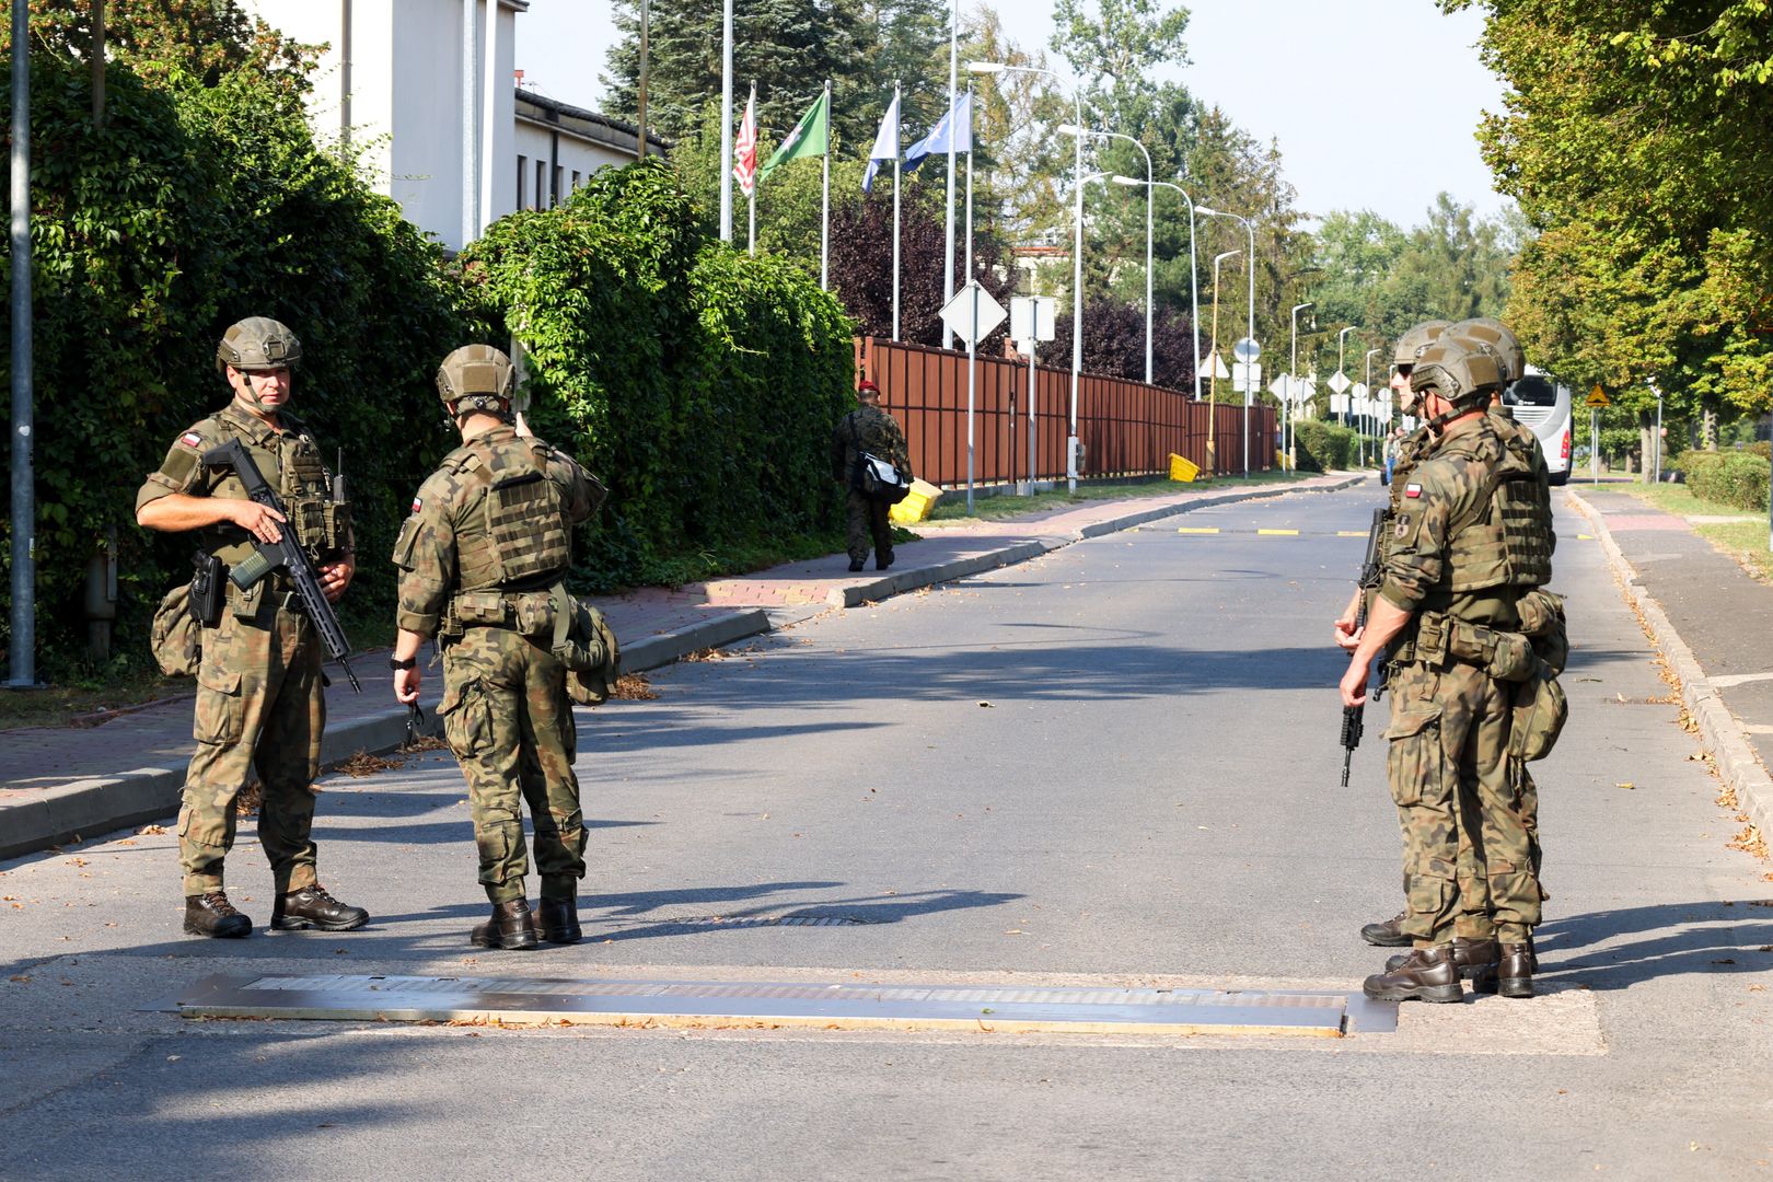
[[314, 776], [326, 728], [321, 642], [305, 615], [268, 599], [250, 620], [223, 611], [216, 627], [204, 629], [191, 727], [197, 753], [179, 810], [186, 895], [222, 890], [234, 801], [252, 771], [264, 785], [259, 845], [277, 893], [314, 884]]

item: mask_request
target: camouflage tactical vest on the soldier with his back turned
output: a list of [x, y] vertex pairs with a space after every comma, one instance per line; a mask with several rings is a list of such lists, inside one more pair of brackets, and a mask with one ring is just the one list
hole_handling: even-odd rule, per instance
[[557, 581], [573, 560], [560, 486], [534, 439], [472, 439], [443, 470], [477, 486], [456, 525], [456, 592], [534, 590]]

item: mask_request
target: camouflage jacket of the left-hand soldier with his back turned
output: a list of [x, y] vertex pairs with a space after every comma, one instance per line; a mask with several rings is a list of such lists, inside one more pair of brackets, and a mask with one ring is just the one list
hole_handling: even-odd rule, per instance
[[509, 424], [466, 439], [418, 486], [394, 542], [395, 622], [434, 636], [457, 592], [557, 581], [571, 564], [573, 526], [603, 496], [578, 461]]

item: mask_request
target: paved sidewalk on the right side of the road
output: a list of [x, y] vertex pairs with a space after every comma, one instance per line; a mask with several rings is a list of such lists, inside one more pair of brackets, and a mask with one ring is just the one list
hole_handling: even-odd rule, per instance
[[1617, 551], [1615, 567], [1624, 560], [1621, 574], [1681, 677], [1720, 776], [1773, 835], [1773, 587], [1713, 549], [1686, 517], [1605, 486], [1569, 496]]

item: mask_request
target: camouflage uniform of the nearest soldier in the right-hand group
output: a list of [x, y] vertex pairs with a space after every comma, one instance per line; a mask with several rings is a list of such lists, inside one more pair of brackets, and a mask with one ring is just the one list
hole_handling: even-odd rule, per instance
[[1551, 576], [1550, 502], [1530, 455], [1509, 447], [1491, 415], [1443, 438], [1411, 477], [1379, 590], [1413, 613], [1392, 654], [1386, 730], [1406, 847], [1401, 927], [1418, 946], [1447, 945], [1457, 918], [1473, 914], [1457, 883], [1464, 829], [1468, 865], [1484, 868], [1466, 890], [1484, 891], [1498, 941], [1525, 943], [1541, 893], [1521, 764], [1509, 758], [1511, 682], [1532, 661], [1516, 603]]

